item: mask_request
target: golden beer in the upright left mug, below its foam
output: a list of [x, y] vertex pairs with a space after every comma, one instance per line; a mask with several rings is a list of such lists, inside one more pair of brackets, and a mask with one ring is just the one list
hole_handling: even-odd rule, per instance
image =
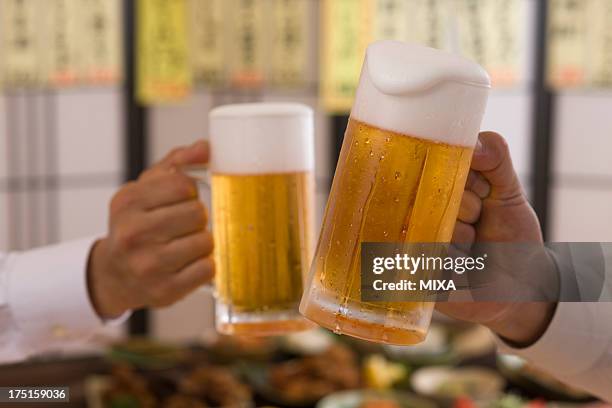
[[312, 257], [312, 175], [214, 174], [212, 189], [219, 300], [240, 313], [296, 309]]

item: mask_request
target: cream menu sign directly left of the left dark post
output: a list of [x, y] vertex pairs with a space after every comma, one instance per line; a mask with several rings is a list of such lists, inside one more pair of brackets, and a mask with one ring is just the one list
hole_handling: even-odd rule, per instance
[[84, 80], [113, 84], [122, 74], [121, 0], [79, 0]]

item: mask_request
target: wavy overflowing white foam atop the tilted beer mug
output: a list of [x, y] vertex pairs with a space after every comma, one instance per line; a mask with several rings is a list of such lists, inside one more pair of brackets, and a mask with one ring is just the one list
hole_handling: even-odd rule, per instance
[[410, 136], [475, 145], [491, 81], [475, 62], [399, 41], [370, 44], [351, 116]]

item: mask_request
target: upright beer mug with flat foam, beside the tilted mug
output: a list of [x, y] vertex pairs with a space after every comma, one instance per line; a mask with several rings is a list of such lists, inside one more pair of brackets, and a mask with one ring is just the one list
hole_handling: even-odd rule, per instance
[[293, 103], [210, 112], [215, 320], [225, 334], [312, 327], [298, 311], [313, 249], [313, 113]]

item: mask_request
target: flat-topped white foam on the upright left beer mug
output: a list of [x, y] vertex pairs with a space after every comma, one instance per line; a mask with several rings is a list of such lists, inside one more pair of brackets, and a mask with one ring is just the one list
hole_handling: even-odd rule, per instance
[[225, 105], [210, 114], [213, 173], [265, 174], [314, 169], [312, 109], [297, 103]]

